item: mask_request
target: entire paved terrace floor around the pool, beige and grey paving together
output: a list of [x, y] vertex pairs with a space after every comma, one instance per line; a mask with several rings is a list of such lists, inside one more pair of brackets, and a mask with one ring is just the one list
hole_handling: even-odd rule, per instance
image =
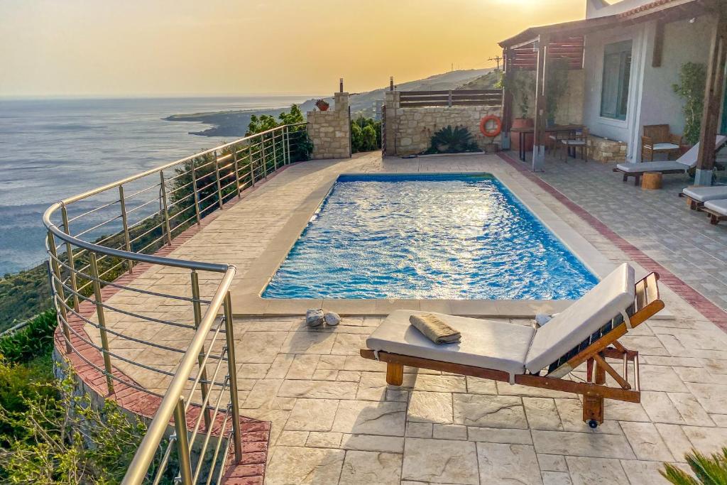
[[[484, 155], [402, 160], [367, 153], [305, 162], [220, 212], [172, 255], [233, 263], [239, 282], [299, 204], [334, 174], [498, 167], [611, 262], [630, 261], [639, 268], [648, 258], [635, 261], [635, 252], [624, 252], [603, 228], [537, 183], [538, 177], [721, 308], [727, 305], [720, 297], [727, 298], [727, 226], [712, 227], [702, 215], [688, 212], [675, 195], [688, 180], [672, 176], [664, 190], [642, 191], [623, 184], [610, 167], [558, 163], [534, 177], [521, 172], [519, 162]], [[597, 430], [582, 422], [574, 394], [408, 368], [401, 388], [387, 386], [383, 364], [358, 356], [382, 316], [345, 317], [339, 326], [323, 329], [308, 329], [303, 316], [238, 318], [241, 414], [272, 422], [265, 483], [666, 483], [658, 473], [662, 462], [683, 462], [693, 446], [712, 452], [727, 444], [727, 334], [707, 318], [715, 319], [715, 313], [704, 316], [679, 296], [688, 292], [678, 278], [662, 285], [673, 318], [654, 319], [622, 339], [640, 352], [642, 402], [606, 401], [606, 422]], [[188, 294], [188, 281], [186, 273], [153, 268], [133, 285]], [[203, 292], [209, 295], [215, 286], [214, 278], [206, 279]], [[108, 303], [157, 318], [191, 318], [191, 308], [152, 296], [119, 292]], [[107, 317], [111, 329], [140, 339], [181, 347], [190, 337], [184, 329], [114, 317]], [[121, 337], [110, 345], [129, 360], [156, 368], [171, 370], [179, 360], [179, 354], [150, 351]], [[150, 389], [166, 388], [168, 380], [159, 374], [123, 361], [114, 364]]]

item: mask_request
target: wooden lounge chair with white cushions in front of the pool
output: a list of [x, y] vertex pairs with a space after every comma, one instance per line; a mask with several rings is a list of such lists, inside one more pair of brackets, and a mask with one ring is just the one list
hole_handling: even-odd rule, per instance
[[[366, 340], [361, 356], [386, 362], [390, 385], [401, 385], [403, 366], [411, 366], [582, 394], [583, 420], [595, 428], [603, 422], [604, 398], [640, 402], [638, 352], [618, 339], [664, 308], [658, 279], [650, 273], [635, 283], [633, 268], [623, 264], [538, 329], [438, 314], [462, 334], [456, 344], [435, 345], [409, 324], [409, 316], [426, 312], [397, 310]], [[606, 358], [622, 361], [622, 374]], [[585, 382], [564, 378], [584, 363]], [[606, 385], [606, 373], [617, 386]]]

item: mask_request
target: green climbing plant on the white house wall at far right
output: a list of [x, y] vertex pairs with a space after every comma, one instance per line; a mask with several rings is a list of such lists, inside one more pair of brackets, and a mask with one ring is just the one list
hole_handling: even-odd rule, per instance
[[684, 100], [684, 139], [694, 145], [699, 141], [704, 111], [704, 87], [707, 86], [707, 68], [700, 63], [685, 63], [679, 71], [679, 83], [672, 84], [674, 92]]

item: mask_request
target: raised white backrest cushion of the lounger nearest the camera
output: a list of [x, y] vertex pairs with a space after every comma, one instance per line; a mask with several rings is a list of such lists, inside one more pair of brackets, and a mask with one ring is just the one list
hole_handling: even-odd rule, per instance
[[634, 269], [624, 263], [547, 325], [537, 329], [525, 359], [526, 368], [539, 372], [558, 360], [633, 305], [634, 299]]

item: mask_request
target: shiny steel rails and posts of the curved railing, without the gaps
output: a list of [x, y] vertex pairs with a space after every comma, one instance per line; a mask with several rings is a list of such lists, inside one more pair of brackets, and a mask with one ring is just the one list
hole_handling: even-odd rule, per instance
[[[153, 252], [161, 244], [171, 246], [172, 245], [172, 232], [183, 231], [185, 228], [190, 227], [192, 221], [196, 218], [196, 223], [199, 224], [201, 217], [208, 215], [214, 210], [224, 209], [225, 203], [232, 199], [232, 196], [236, 195], [238, 198], [241, 197], [241, 191], [244, 188], [254, 187], [256, 181], [267, 179], [271, 172], [274, 172], [278, 167], [282, 167], [286, 164], [292, 163], [291, 160], [291, 135], [294, 137], [301, 136], [302, 125], [290, 124], [268, 129], [265, 132], [257, 133], [248, 137], [243, 137], [238, 140], [234, 140], [230, 143], [210, 148], [206, 151], [201, 151], [192, 156], [179, 159], [177, 161], [164, 164], [161, 167], [149, 169], [140, 174], [131, 175], [121, 180], [117, 180], [113, 183], [108, 183], [98, 188], [79, 193], [76, 196], [71, 196], [62, 201], [58, 201], [52, 204], [43, 215], [43, 223], [47, 228], [47, 249], [49, 252], [49, 272], [50, 281], [52, 284], [52, 295], [54, 299], [55, 308], [58, 314], [59, 326], [62, 331], [63, 340], [65, 341], [66, 353], [75, 352], [82, 361], [89, 364], [92, 369], [105, 375], [109, 393], [114, 392], [113, 385], [116, 383], [123, 383], [131, 388], [142, 390], [139, 386], [133, 382], [126, 382], [123, 374], [121, 377], [114, 371], [111, 358], [116, 358], [126, 364], [132, 364], [141, 366], [145, 369], [153, 370], [162, 375], [172, 376], [172, 381], [169, 383], [169, 387], [166, 389], [164, 396], [162, 397], [161, 404], [158, 407], [155, 417], [149, 425], [147, 433], [137, 449], [136, 454], [132, 463], [129, 465], [129, 469], [124, 477], [124, 484], [141, 484], [142, 481], [148, 476], [149, 467], [154, 462], [156, 450], [161, 444], [162, 438], [169, 427], [170, 420], [174, 417], [176, 433], [169, 439], [169, 447], [166, 449], [164, 454], [165, 458], [156, 470], [156, 476], [154, 482], [157, 483], [161, 478], [161, 474], [165, 473], [165, 467], [169, 465], [168, 458], [172, 444], [176, 444], [177, 452], [180, 460], [179, 477], [181, 478], [182, 484], [190, 485], [191, 479], [196, 481], [199, 478], [201, 471], [203, 470], [204, 462], [202, 458], [198, 460], [196, 469], [192, 467], [192, 460], [190, 459], [190, 451], [194, 446], [195, 438], [198, 436], [198, 431], [201, 431], [200, 425], [204, 415], [204, 444], [202, 445], [202, 452], [209, 445], [210, 438], [212, 436], [214, 428], [214, 419], [218, 417], [218, 412], [222, 411], [222, 395], [229, 393], [230, 402], [225, 407], [223, 414], [223, 425], [222, 428], [217, 428], [217, 432], [220, 436], [217, 438], [217, 446], [214, 452], [214, 458], [212, 462], [212, 469], [209, 471], [209, 478], [207, 483], [212, 479], [212, 473], [216, 469], [217, 454], [220, 451], [220, 444], [227, 436], [222, 436], [228, 427], [228, 422], [232, 424], [232, 434], [230, 435], [232, 448], [236, 461], [241, 460], [241, 430], [239, 422], [239, 409], [238, 409], [238, 396], [237, 396], [237, 377], [236, 377], [236, 361], [234, 351], [234, 334], [233, 334], [233, 318], [232, 318], [232, 305], [230, 300], [230, 285], [232, 284], [233, 278], [236, 274], [236, 268], [230, 264], [215, 264], [208, 262], [199, 262], [193, 260], [181, 260], [174, 257], [158, 256], [156, 254], [145, 254], [144, 251], [149, 249]], [[293, 128], [298, 128], [292, 130]], [[270, 135], [270, 136], [268, 136]], [[300, 139], [298, 139], [300, 140]], [[256, 151], [253, 153], [253, 146]], [[231, 147], [229, 153], [223, 153]], [[206, 161], [209, 160], [209, 161]], [[206, 161], [206, 162], [205, 162]], [[189, 163], [191, 162], [191, 163]], [[201, 162], [201, 163], [199, 163]], [[180, 167], [182, 167], [180, 169]], [[170, 171], [174, 168], [176, 175], [165, 177], [164, 170]], [[211, 170], [210, 172], [206, 172]], [[233, 172], [230, 172], [230, 171]], [[241, 170], [244, 172], [241, 174]], [[256, 175], [257, 172], [257, 175]], [[144, 177], [150, 175], [158, 175], [158, 180], [150, 181], [151, 185], [147, 188], [141, 188], [140, 190], [134, 191], [133, 193], [124, 196], [124, 185], [132, 183], [136, 180], [141, 180]], [[184, 182], [180, 185], [179, 180], [182, 180], [182, 176], [191, 177], [190, 182]], [[201, 180], [206, 182], [212, 179], [212, 182], [206, 183], [206, 185], [199, 187], [198, 183]], [[230, 180], [231, 179], [231, 180]], [[230, 180], [228, 182], [228, 180]], [[224, 185], [223, 185], [224, 183]], [[214, 187], [216, 185], [216, 188]], [[235, 185], [234, 188], [231, 188]], [[172, 187], [169, 189], [169, 187]], [[74, 202], [88, 199], [105, 191], [114, 190], [118, 191], [118, 198], [114, 198], [111, 202], [105, 202], [100, 207], [93, 209], [86, 209], [79, 215], [69, 217], [68, 207]], [[150, 199], [150, 201], [142, 202], [136, 207], [126, 209], [126, 201], [140, 193], [144, 193], [150, 190], [158, 189], [158, 198]], [[177, 193], [184, 190], [191, 190], [192, 192], [186, 196], [177, 196]], [[209, 194], [207, 194], [209, 192]], [[206, 195], [203, 195], [206, 194]], [[116, 195], [116, 194], [115, 194]], [[174, 197], [172, 197], [174, 196]], [[181, 201], [188, 201], [190, 197], [193, 197], [192, 204], [180, 204]], [[202, 205], [201, 202], [209, 199], [206, 205]], [[107, 199], [108, 200], [108, 199]], [[145, 215], [145, 212], [139, 212], [141, 219], [135, 222], [129, 221], [129, 215], [132, 212], [146, 207], [148, 204], [154, 204], [158, 202], [158, 212]], [[102, 223], [90, 225], [87, 228], [81, 228], [81, 231], [75, 235], [71, 233], [69, 223], [75, 224], [77, 221], [89, 215], [100, 214], [103, 209], [119, 204], [121, 209], [121, 215], [116, 215], [109, 220], [104, 220]], [[189, 216], [190, 212], [194, 210], [195, 215]], [[61, 213], [63, 223], [55, 223], [55, 214]], [[203, 215], [204, 214], [204, 215]], [[181, 215], [181, 217], [179, 217]], [[155, 220], [155, 218], [157, 218]], [[182, 220], [184, 219], [184, 220]], [[81, 236], [86, 235], [87, 237], [95, 233], [98, 228], [114, 221], [123, 223], [123, 231], [111, 233], [110, 235], [103, 235], [100, 239], [95, 242], [84, 241]], [[158, 223], [156, 221], [159, 221]], [[133, 229], [140, 228], [144, 231], [142, 234], [135, 234], [133, 237], [130, 231]], [[114, 231], [116, 231], [114, 229]], [[158, 231], [155, 233], [155, 231]], [[161, 236], [156, 237], [157, 234], [161, 233]], [[148, 239], [153, 239], [147, 244]], [[57, 239], [60, 239], [60, 244], [57, 244]], [[141, 244], [146, 244], [143, 248], [133, 251], [134, 243], [136, 241], [142, 241]], [[103, 244], [109, 243], [108, 246]], [[60, 257], [58, 251], [65, 246], [65, 260]], [[117, 247], [111, 247], [117, 246]], [[73, 248], [76, 248], [75, 250]], [[100, 267], [99, 263], [105, 260], [104, 266]], [[117, 262], [118, 260], [118, 262]], [[79, 265], [76, 265], [76, 262]], [[133, 263], [146, 263], [148, 265], [159, 265], [162, 267], [173, 267], [173, 268], [184, 268], [191, 271], [191, 286], [192, 294], [191, 298], [181, 296], [164, 294], [162, 292], [153, 292], [150, 290], [134, 289], [131, 286], [124, 286], [113, 280], [119, 273], [113, 273], [113, 271], [126, 265], [126, 269], [129, 273], [132, 273], [134, 268]], [[199, 279], [197, 276], [198, 271], [222, 273], [222, 279], [220, 280], [217, 288], [214, 290], [214, 296], [211, 300], [202, 299], [199, 291]], [[63, 272], [66, 273], [64, 278]], [[109, 278], [103, 278], [105, 274], [111, 274]], [[79, 279], [80, 278], [80, 279]], [[176, 301], [190, 302], [194, 307], [194, 325], [180, 324], [174, 321], [166, 321], [160, 318], [154, 318], [152, 316], [144, 316], [137, 312], [124, 310], [119, 305], [109, 305], [104, 300], [104, 294], [101, 290], [102, 286], [111, 285], [115, 289], [137, 291], [145, 293], [155, 297], [161, 298], [172, 298]], [[89, 292], [92, 292], [89, 297]], [[108, 297], [107, 297], [108, 298]], [[201, 311], [201, 304], [208, 305], [204, 311], [204, 315]], [[95, 323], [92, 316], [87, 316], [85, 313], [79, 313], [79, 305], [92, 305], [95, 307]], [[222, 310], [222, 312], [221, 312]], [[113, 352], [109, 348], [108, 334], [113, 337], [121, 337], [126, 340], [131, 340], [137, 343], [144, 343], [143, 340], [133, 337], [131, 335], [125, 335], [124, 332], [117, 332], [113, 329], [106, 328], [105, 312], [114, 312], [122, 316], [131, 318], [140, 318], [143, 321], [151, 324], [172, 324], [177, 326], [185, 326], [186, 328], [195, 329], [193, 336], [190, 338], [190, 343], [186, 350], [171, 348], [167, 345], [155, 345], [152, 342], [147, 342], [150, 347], [158, 348], [161, 350], [167, 350], [179, 353], [183, 353], [180, 363], [174, 372], [169, 372], [162, 369], [153, 369], [148, 365], [142, 364], [141, 362], [135, 362], [132, 359], [126, 358], [118, 352]], [[220, 320], [217, 320], [218, 315], [222, 313], [223, 316]], [[83, 325], [89, 324], [100, 334], [101, 343], [92, 341], [92, 338], [87, 336], [81, 329], [77, 329], [76, 326], [72, 326], [72, 321], [69, 319], [72, 316], [73, 322], [81, 323]], [[219, 321], [219, 324], [213, 329], [214, 322]], [[217, 340], [217, 335], [224, 330], [225, 335], [225, 346], [219, 352], [213, 352], [213, 346]], [[209, 334], [212, 332], [212, 340], [209, 339]], [[78, 350], [74, 347], [76, 343], [81, 345], [87, 345], [99, 351], [103, 356], [103, 366], [93, 364], [89, 359], [84, 356], [83, 350]], [[205, 346], [209, 345], [209, 348], [205, 350]], [[214, 375], [208, 378], [206, 375], [206, 365], [209, 359], [217, 360], [217, 367], [214, 371]], [[227, 363], [227, 375], [222, 380], [217, 380], [217, 372], [219, 372], [222, 363]], [[198, 366], [198, 373], [193, 376], [193, 369]], [[191, 389], [189, 390], [189, 396], [185, 401], [182, 392], [185, 390], [185, 386], [193, 382]], [[198, 388], [197, 386], [201, 386]], [[211, 388], [215, 386], [219, 389], [220, 394], [217, 396], [217, 404], [211, 406]], [[186, 424], [186, 412], [191, 404], [191, 399], [194, 393], [201, 390], [201, 409], [198, 419], [196, 419], [196, 426], [191, 433], [191, 438], [188, 436], [187, 424]], [[147, 392], [160, 396], [158, 393], [148, 390]], [[212, 414], [210, 414], [212, 413]], [[220, 473], [224, 470], [224, 462], [220, 463]], [[221, 475], [220, 475], [221, 476]]]

